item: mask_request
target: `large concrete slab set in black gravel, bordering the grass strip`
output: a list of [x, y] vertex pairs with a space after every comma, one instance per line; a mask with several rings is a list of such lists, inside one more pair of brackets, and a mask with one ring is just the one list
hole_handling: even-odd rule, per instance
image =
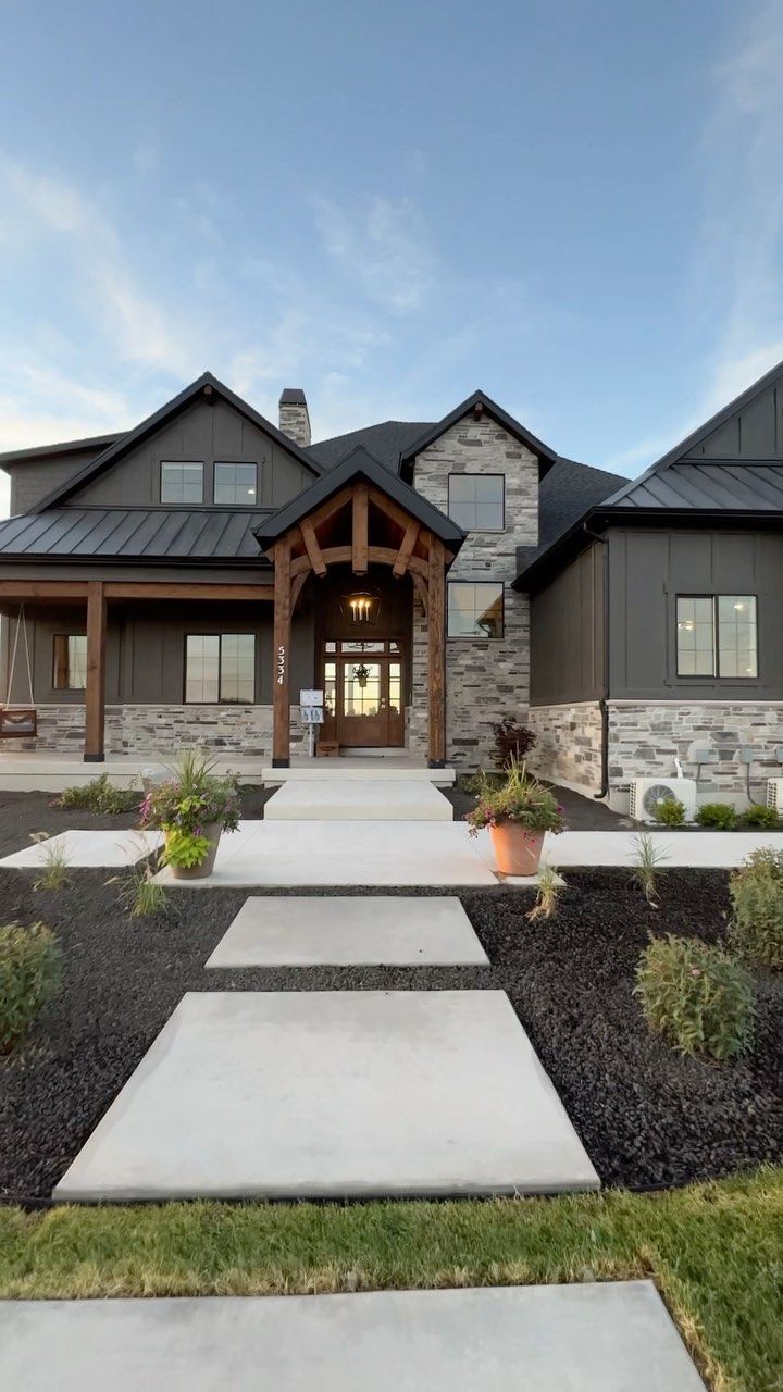
[[216, 991], [183, 998], [54, 1196], [598, 1185], [503, 991]]

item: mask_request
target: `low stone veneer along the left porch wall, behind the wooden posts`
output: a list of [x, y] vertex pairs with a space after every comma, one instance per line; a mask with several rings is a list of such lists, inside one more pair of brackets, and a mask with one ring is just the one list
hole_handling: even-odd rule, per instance
[[[81, 753], [82, 704], [38, 706], [38, 738], [6, 743], [15, 750]], [[300, 707], [291, 706], [291, 750], [304, 745]], [[107, 754], [174, 754], [192, 745], [216, 753], [272, 757], [272, 706], [107, 706]]]

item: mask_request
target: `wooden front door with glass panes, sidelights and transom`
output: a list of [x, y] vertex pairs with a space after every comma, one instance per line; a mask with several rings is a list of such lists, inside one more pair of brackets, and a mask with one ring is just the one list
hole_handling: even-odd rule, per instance
[[346, 749], [405, 743], [403, 656], [394, 642], [326, 643], [323, 739]]

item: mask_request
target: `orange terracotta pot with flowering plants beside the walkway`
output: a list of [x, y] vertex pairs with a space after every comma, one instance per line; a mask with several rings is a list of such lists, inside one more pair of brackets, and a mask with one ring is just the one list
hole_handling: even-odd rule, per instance
[[538, 873], [548, 831], [563, 831], [563, 809], [555, 793], [511, 760], [503, 782], [479, 775], [476, 805], [465, 821], [471, 835], [489, 828], [500, 874]]

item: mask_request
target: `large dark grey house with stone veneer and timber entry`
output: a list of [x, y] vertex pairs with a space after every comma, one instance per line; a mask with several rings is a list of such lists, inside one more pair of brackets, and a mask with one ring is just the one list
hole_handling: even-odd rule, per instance
[[783, 365], [633, 482], [482, 391], [312, 444], [301, 390], [274, 426], [210, 373], [0, 468], [36, 713], [6, 749], [284, 767], [315, 688], [322, 748], [475, 767], [509, 714], [539, 773], [619, 806], [676, 757], [741, 800], [783, 756]]

